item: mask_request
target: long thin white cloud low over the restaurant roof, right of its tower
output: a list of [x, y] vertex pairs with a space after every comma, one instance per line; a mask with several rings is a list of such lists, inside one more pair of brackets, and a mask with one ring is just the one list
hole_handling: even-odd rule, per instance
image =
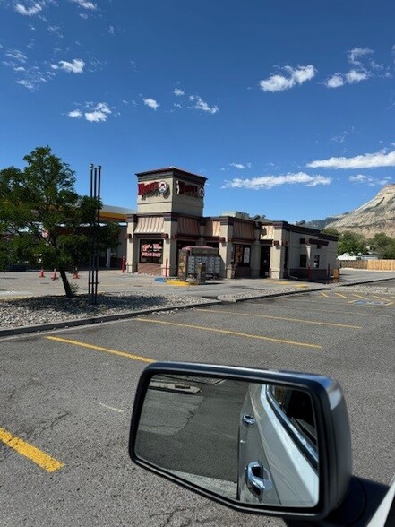
[[262, 176], [253, 177], [252, 179], [235, 178], [231, 181], [226, 181], [222, 188], [247, 188], [251, 190], [270, 189], [275, 186], [283, 185], [330, 185], [331, 177], [326, 176], [309, 176], [304, 172], [297, 174], [285, 174], [283, 176]]

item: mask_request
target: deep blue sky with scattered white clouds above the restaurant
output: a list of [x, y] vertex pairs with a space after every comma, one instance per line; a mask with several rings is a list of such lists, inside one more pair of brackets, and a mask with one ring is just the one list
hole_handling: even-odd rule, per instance
[[135, 172], [208, 177], [204, 213], [312, 220], [395, 183], [393, 0], [0, 0], [0, 168], [49, 145], [135, 208]]

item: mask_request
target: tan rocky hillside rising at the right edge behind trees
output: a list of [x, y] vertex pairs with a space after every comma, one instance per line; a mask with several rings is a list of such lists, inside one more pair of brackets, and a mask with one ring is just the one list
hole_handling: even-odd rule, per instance
[[395, 184], [382, 187], [370, 202], [355, 211], [306, 223], [315, 229], [333, 227], [340, 232], [352, 230], [371, 238], [377, 232], [385, 232], [395, 238]]

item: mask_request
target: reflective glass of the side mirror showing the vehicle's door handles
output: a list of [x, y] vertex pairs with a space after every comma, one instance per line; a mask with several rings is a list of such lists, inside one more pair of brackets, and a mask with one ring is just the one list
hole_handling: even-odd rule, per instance
[[319, 459], [310, 394], [217, 377], [156, 375], [135, 454], [242, 503], [313, 507]]

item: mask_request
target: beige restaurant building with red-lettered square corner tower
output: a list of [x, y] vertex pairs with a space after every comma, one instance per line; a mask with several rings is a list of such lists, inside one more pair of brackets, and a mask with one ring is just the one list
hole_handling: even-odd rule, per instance
[[322, 280], [336, 266], [338, 238], [317, 229], [243, 212], [203, 216], [206, 177], [175, 167], [136, 176], [137, 212], [127, 216], [127, 272], [176, 276], [180, 251], [195, 246], [217, 249], [217, 278]]

